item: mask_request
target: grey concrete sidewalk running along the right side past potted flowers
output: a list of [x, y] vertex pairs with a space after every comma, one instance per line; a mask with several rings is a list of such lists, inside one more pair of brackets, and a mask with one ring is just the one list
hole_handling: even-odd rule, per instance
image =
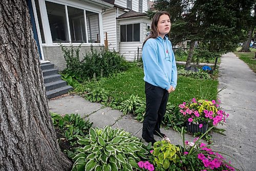
[[[221, 57], [218, 95], [230, 114], [222, 126], [226, 136], [214, 133], [214, 149], [231, 155], [246, 171], [256, 170], [256, 74], [233, 53]], [[238, 168], [239, 164], [230, 159]]]

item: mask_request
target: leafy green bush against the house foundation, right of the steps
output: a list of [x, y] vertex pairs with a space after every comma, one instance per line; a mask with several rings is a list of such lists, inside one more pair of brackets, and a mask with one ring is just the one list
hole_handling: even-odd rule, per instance
[[63, 70], [63, 74], [68, 74], [79, 78], [78, 81], [86, 80], [93, 77], [106, 77], [115, 72], [126, 70], [130, 64], [125, 61], [115, 51], [105, 50], [101, 48], [99, 51], [91, 46], [91, 51], [83, 55], [80, 60], [79, 52], [81, 46], [67, 48], [61, 45], [64, 58], [67, 62], [67, 68]]

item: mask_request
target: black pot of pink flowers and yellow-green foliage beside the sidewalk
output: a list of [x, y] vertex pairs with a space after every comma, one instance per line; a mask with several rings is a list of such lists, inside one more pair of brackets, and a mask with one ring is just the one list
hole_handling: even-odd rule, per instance
[[196, 100], [193, 98], [190, 102], [183, 102], [179, 105], [179, 113], [185, 118], [188, 132], [207, 131], [208, 125], [223, 124], [228, 117], [228, 113], [221, 110], [220, 101], [215, 100]]

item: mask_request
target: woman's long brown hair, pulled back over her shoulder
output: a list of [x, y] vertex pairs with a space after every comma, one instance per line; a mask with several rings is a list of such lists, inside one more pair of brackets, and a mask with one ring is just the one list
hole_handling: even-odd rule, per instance
[[157, 12], [154, 17], [153, 17], [153, 20], [152, 20], [152, 23], [151, 23], [151, 31], [150, 31], [150, 35], [147, 36], [147, 38], [145, 39], [145, 41], [143, 42], [143, 45], [142, 47], [144, 46], [145, 42], [150, 39], [150, 38], [157, 38], [158, 37], [158, 29], [157, 29], [157, 23], [158, 23], [158, 20], [160, 18], [161, 15], [168, 15], [169, 18], [170, 18], [170, 14], [169, 12], [167, 11], [159, 11]]

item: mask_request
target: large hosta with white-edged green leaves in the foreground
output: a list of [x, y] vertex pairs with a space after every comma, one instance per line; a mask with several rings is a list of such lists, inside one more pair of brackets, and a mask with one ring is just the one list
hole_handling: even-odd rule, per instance
[[148, 154], [146, 146], [137, 137], [122, 129], [91, 128], [87, 137], [78, 137], [83, 145], [73, 157], [72, 171], [79, 170], [136, 170], [138, 162]]

